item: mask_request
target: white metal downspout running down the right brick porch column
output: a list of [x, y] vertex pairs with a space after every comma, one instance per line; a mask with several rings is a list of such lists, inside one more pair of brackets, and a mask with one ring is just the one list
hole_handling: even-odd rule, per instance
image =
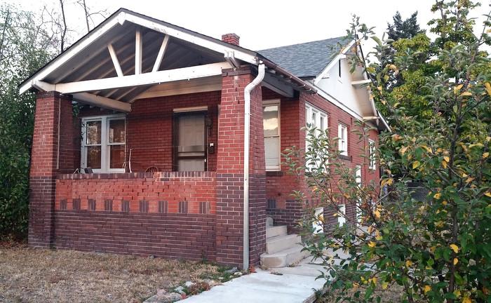
[[255, 79], [244, 88], [244, 206], [243, 206], [243, 269], [249, 268], [249, 148], [250, 148], [250, 92], [264, 79], [264, 64], [257, 66]]

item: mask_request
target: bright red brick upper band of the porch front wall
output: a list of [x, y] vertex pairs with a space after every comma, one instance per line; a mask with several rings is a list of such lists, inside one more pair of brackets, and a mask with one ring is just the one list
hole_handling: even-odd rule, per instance
[[122, 211], [129, 201], [130, 213], [140, 212], [140, 201], [148, 201], [148, 213], [159, 213], [159, 201], [166, 201], [166, 213], [178, 213], [179, 203], [187, 202], [187, 213], [200, 213], [201, 202], [209, 203], [208, 213], [215, 213], [214, 172], [125, 173], [97, 175], [60, 175], [56, 180], [55, 209], [73, 209], [79, 199], [80, 209], [88, 210], [88, 200], [95, 210], [104, 211], [105, 201], [112, 201], [112, 211]]

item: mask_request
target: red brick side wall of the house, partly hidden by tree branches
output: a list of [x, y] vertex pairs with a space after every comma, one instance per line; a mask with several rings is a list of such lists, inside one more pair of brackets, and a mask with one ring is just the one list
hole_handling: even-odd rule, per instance
[[[337, 125], [338, 123], [344, 123], [349, 126], [349, 151], [351, 160], [339, 159], [345, 166], [349, 168], [355, 168], [356, 165], [362, 166], [362, 180], [367, 184], [368, 182], [378, 182], [379, 170], [378, 166], [376, 170], [370, 170], [368, 168], [368, 162], [366, 158], [361, 156], [361, 148], [368, 150], [368, 142], [358, 142], [358, 134], [352, 133], [352, 130], [359, 129], [356, 126], [356, 119], [344, 112], [339, 107], [328, 102], [320, 95], [310, 95], [307, 93], [300, 93], [300, 97], [297, 100], [291, 100], [285, 97], [263, 88], [264, 100], [269, 99], [281, 99], [281, 150], [284, 151], [292, 146], [304, 148], [305, 144], [305, 132], [300, 128], [305, 126], [305, 104], [309, 102], [311, 105], [322, 109], [329, 114], [328, 126], [330, 130], [330, 137], [337, 137]], [[370, 138], [378, 142], [378, 134], [376, 130], [370, 130]], [[367, 147], [364, 147], [367, 144]], [[367, 154], [368, 156], [368, 154]], [[284, 159], [282, 159], [284, 161]], [[267, 175], [267, 199], [271, 202], [269, 204], [276, 205], [276, 208], [269, 208], [267, 215], [274, 218], [275, 224], [288, 225], [289, 231], [294, 229], [295, 221], [300, 220], [302, 217], [302, 206], [299, 202], [292, 199], [290, 194], [293, 190], [304, 190], [307, 194], [309, 191], [303, 180], [298, 180], [297, 177], [288, 173], [288, 167], [282, 165], [281, 172], [268, 173]], [[309, 196], [307, 196], [309, 197]], [[274, 201], [274, 203], [272, 203]], [[315, 201], [309, 201], [310, 204]], [[349, 215], [354, 217], [354, 209], [348, 208]], [[335, 218], [326, 215], [330, 221], [335, 221]]]

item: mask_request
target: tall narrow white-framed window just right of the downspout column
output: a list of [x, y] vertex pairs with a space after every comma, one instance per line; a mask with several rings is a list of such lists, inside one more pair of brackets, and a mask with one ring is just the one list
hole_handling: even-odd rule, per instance
[[262, 102], [266, 170], [281, 169], [280, 100]]

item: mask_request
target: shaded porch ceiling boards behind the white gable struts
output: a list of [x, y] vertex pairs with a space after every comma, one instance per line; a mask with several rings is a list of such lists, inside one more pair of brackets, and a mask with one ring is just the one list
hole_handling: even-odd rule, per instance
[[[114, 48], [123, 76], [135, 74], [135, 32], [137, 29], [140, 29], [142, 34], [142, 73], [152, 72], [165, 35], [125, 22], [122, 26], [112, 28], [88, 48], [68, 60], [65, 65], [49, 74], [44, 81], [58, 84], [118, 76], [107, 48], [109, 44]], [[175, 37], [169, 37], [166, 52], [158, 70], [180, 69], [217, 62], [224, 62], [223, 54]], [[130, 102], [150, 87], [152, 85], [88, 92], [112, 100]]]

